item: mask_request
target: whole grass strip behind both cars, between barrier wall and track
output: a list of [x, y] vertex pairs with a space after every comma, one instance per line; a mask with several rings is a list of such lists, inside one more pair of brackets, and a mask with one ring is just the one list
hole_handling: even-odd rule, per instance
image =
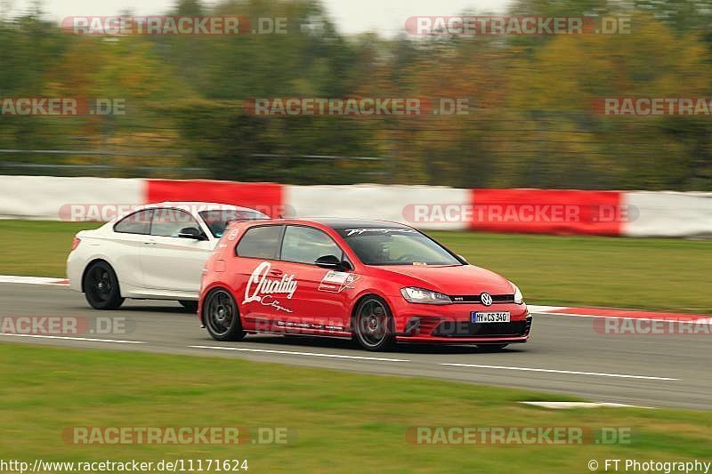
[[[93, 223], [0, 221], [0, 274], [64, 276], [72, 237]], [[431, 232], [536, 304], [712, 312], [712, 241]]]

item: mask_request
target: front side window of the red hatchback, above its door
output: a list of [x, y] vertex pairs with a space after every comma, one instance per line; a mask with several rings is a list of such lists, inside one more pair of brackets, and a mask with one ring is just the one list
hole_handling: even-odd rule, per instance
[[313, 264], [325, 255], [342, 258], [341, 248], [326, 232], [312, 227], [287, 226], [281, 260]]

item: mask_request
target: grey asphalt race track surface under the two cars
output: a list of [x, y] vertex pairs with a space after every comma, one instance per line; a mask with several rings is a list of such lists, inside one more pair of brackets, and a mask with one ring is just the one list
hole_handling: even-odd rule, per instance
[[96, 317], [117, 318], [112, 321], [125, 330], [58, 338], [0, 334], [0, 343], [242, 358], [546, 390], [596, 402], [712, 410], [709, 333], [607, 335], [595, 331], [591, 317], [535, 314], [530, 342], [498, 353], [405, 344], [368, 352], [352, 341], [279, 335], [218, 342], [174, 301], [127, 300], [117, 311], [98, 311], [65, 286], [0, 284], [0, 317], [20, 316], [81, 317], [90, 323]]

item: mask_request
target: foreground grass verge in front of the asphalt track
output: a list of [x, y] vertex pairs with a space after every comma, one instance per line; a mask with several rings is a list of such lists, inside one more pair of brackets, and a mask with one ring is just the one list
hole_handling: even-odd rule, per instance
[[[0, 345], [3, 459], [244, 459], [248, 472], [585, 472], [596, 459], [708, 459], [712, 414], [551, 411], [522, 390], [348, 374], [239, 359]], [[68, 427], [284, 427], [287, 445], [66, 444]], [[423, 446], [417, 426], [630, 429], [630, 444]]]

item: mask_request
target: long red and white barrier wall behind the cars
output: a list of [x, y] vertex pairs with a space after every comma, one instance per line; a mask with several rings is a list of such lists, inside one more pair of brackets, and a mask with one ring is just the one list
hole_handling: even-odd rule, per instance
[[273, 217], [384, 219], [421, 229], [712, 237], [712, 193], [0, 176], [5, 219], [101, 221], [160, 201], [245, 205]]

